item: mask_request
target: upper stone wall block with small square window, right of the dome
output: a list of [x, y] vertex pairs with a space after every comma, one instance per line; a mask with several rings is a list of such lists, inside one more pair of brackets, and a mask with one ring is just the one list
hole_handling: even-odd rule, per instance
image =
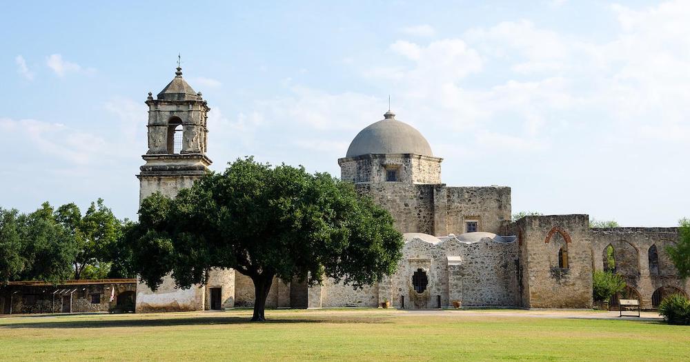
[[466, 221], [477, 221], [479, 231], [499, 234], [501, 226], [511, 219], [511, 188], [449, 187], [445, 192], [446, 222], [436, 223], [435, 235], [463, 234]]

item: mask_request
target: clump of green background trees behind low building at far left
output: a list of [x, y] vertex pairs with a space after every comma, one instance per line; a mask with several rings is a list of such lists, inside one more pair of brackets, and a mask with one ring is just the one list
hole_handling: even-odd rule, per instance
[[121, 224], [101, 199], [83, 217], [74, 203], [0, 208], [0, 283], [132, 276]]

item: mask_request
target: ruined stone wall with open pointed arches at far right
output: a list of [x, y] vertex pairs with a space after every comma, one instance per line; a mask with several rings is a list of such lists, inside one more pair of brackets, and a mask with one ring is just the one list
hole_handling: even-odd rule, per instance
[[[592, 254], [595, 270], [604, 268], [604, 248], [615, 250], [615, 271], [640, 297], [644, 309], [653, 308], [655, 290], [680, 290], [690, 294], [690, 281], [678, 278], [678, 272], [666, 251], [678, 241], [678, 228], [593, 228]], [[656, 245], [658, 272], [649, 268], [649, 248]], [[664, 294], [664, 293], [662, 293]]]

